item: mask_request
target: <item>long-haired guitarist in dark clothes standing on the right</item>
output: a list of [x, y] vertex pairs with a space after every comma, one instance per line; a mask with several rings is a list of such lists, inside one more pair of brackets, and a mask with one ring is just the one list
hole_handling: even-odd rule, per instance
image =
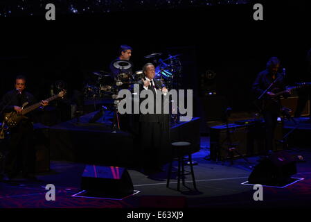
[[[265, 148], [263, 155], [268, 155], [273, 150], [274, 130], [281, 110], [281, 101], [276, 93], [285, 90], [284, 75], [278, 72], [279, 68], [280, 60], [276, 57], [270, 58], [266, 69], [258, 74], [252, 87], [257, 98], [263, 95], [260, 98], [261, 114], [265, 119]], [[265, 92], [266, 89], [268, 89], [267, 92]]]

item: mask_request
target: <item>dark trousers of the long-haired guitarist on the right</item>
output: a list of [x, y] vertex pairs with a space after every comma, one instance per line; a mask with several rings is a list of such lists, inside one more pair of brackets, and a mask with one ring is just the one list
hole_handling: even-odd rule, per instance
[[262, 154], [267, 155], [274, 147], [274, 131], [278, 122], [278, 112], [265, 110], [263, 118], [265, 119], [265, 148]]

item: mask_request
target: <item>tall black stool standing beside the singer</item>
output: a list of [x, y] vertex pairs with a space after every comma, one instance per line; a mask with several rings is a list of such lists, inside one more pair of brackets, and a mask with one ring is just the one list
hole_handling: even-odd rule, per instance
[[[179, 191], [180, 187], [180, 178], [182, 179], [182, 185], [185, 185], [184, 176], [191, 174], [193, 180], [193, 187], [197, 189], [195, 185], [195, 173], [193, 171], [192, 157], [191, 157], [191, 144], [189, 142], [174, 142], [172, 143], [172, 161], [168, 167], [168, 178], [166, 181], [166, 187], [170, 185], [170, 176], [172, 174], [172, 162], [175, 160], [178, 161], [178, 171], [177, 171], [177, 190]], [[188, 155], [188, 158], [184, 157]], [[185, 160], [189, 161], [190, 171], [186, 171], [184, 168]]]

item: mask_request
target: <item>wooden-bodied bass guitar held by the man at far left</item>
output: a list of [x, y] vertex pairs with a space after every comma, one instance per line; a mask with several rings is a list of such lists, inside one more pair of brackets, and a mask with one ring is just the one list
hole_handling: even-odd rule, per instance
[[[62, 90], [60, 93], [56, 94], [55, 96], [52, 96], [48, 99], [45, 99], [46, 101], [50, 102], [53, 101], [55, 99], [58, 98], [62, 98], [64, 97], [64, 95], [66, 94], [65, 90]], [[7, 112], [4, 113], [3, 116], [3, 123], [8, 127], [8, 128], [12, 128], [17, 126], [17, 124], [22, 120], [22, 119], [28, 119], [28, 117], [25, 117], [25, 114], [27, 114], [28, 112], [31, 112], [37, 108], [39, 108], [40, 106], [42, 106], [41, 102], [40, 103], [35, 103], [33, 105], [30, 105], [28, 107], [25, 108], [25, 106], [28, 105], [28, 102], [24, 103], [21, 106], [21, 114], [17, 113], [16, 111], [12, 111], [12, 112]], [[3, 127], [3, 126], [2, 126]]]

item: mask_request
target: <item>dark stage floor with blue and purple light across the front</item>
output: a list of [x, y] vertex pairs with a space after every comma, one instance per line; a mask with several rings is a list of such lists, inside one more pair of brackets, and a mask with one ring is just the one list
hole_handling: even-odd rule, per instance
[[[39, 181], [28, 182], [16, 179], [0, 182], [0, 207], [2, 208], [140, 208], [140, 207], [190, 207], [190, 208], [276, 208], [310, 207], [311, 200], [311, 149], [294, 148], [288, 150], [292, 155], [303, 155], [305, 162], [297, 162], [294, 178], [303, 180], [285, 188], [264, 187], [263, 201], [255, 201], [253, 186], [241, 185], [258, 157], [249, 157], [251, 164], [243, 159], [229, 162], [205, 160], [209, 154], [208, 137], [202, 137], [201, 150], [193, 154], [198, 164], [194, 167], [197, 189], [193, 189], [190, 177], [186, 185], [177, 191], [177, 180], [173, 176], [170, 189], [166, 188], [166, 172], [146, 176], [134, 169], [128, 169], [134, 189], [138, 194], [123, 200], [72, 197], [80, 189], [84, 164], [73, 162], [51, 162], [51, 171], [37, 174]], [[55, 201], [45, 198], [48, 184], [55, 185]]]

